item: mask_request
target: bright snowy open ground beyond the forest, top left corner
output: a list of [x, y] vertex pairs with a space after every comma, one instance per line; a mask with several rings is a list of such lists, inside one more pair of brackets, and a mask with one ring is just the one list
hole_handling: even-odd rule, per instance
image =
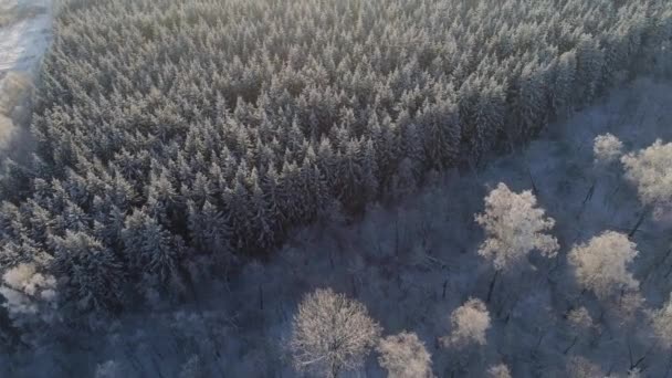
[[17, 113], [24, 112], [17, 106], [25, 99], [49, 45], [51, 4], [52, 0], [0, 0], [0, 153], [18, 138]]

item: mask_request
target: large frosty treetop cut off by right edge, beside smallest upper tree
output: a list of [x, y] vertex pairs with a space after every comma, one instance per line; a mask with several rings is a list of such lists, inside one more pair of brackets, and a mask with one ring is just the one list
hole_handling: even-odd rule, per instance
[[672, 143], [653, 145], [621, 158], [626, 178], [637, 185], [642, 202], [658, 210], [672, 206]]

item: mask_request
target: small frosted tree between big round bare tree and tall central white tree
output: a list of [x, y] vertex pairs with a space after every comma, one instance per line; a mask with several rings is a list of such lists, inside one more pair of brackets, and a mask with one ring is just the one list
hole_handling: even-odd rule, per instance
[[443, 342], [458, 347], [485, 345], [490, 328], [490, 314], [481, 300], [470, 298], [450, 315], [452, 332]]

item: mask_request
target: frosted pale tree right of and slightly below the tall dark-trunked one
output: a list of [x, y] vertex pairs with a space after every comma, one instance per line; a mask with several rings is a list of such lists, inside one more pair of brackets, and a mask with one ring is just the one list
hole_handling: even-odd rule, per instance
[[605, 300], [615, 293], [639, 287], [639, 282], [628, 272], [628, 264], [637, 255], [637, 244], [627, 235], [607, 231], [575, 246], [568, 259], [578, 283]]

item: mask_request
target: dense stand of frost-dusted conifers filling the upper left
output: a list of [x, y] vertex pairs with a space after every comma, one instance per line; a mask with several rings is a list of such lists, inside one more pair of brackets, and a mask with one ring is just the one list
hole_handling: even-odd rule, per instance
[[0, 182], [0, 266], [35, 264], [76, 311], [185, 292], [202, 261], [228, 266], [295, 225], [477, 166], [669, 64], [671, 8], [65, 1], [36, 150]]

